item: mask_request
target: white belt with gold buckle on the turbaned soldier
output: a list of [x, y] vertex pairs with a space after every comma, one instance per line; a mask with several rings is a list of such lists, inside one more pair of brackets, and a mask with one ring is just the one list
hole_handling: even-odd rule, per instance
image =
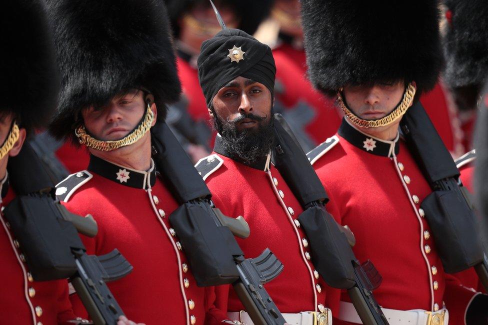
[[[302, 311], [299, 313], [282, 313], [286, 323], [290, 325], [331, 325], [332, 324], [332, 311], [329, 308], [325, 308], [324, 312], [318, 311]], [[236, 324], [253, 325], [249, 314], [243, 310], [229, 311], [227, 316], [232, 319]], [[238, 319], [238, 320], [234, 320]]]

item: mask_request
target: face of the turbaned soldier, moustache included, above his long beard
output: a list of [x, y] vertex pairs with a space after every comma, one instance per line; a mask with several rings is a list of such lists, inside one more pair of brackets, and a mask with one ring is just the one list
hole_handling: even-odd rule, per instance
[[271, 117], [269, 89], [262, 83], [242, 76], [220, 88], [212, 104], [217, 117], [224, 123], [232, 124], [237, 131], [257, 130], [259, 125]]

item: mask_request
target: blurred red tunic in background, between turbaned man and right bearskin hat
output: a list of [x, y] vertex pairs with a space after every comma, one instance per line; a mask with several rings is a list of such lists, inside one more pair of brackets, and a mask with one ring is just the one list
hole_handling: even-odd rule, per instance
[[[303, 119], [300, 122], [303, 124], [303, 131], [315, 144], [332, 136], [339, 127], [340, 114], [334, 100], [316, 91], [306, 78], [305, 51], [283, 42], [273, 49], [273, 57], [276, 64], [276, 82], [282, 87], [281, 91], [275, 91], [276, 99], [285, 106], [286, 111], [310, 110], [288, 113], [296, 114], [293, 115], [295, 120]], [[284, 115], [287, 117], [286, 112]]]

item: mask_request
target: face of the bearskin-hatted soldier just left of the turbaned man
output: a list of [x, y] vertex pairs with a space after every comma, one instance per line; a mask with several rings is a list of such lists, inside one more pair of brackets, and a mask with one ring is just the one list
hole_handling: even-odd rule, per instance
[[[151, 108], [156, 113], [154, 104]], [[106, 106], [85, 108], [81, 115], [90, 134], [108, 141], [118, 140], [129, 134], [141, 120], [145, 109], [143, 92], [134, 89], [113, 97]]]

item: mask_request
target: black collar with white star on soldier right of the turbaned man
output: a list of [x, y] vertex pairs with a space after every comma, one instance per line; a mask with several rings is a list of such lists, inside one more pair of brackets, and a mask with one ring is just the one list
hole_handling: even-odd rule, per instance
[[345, 117], [342, 118], [342, 123], [340, 124], [337, 133], [346, 139], [347, 142], [367, 153], [390, 157], [392, 156], [393, 145], [395, 155], [400, 151], [400, 143], [398, 141], [399, 134], [397, 134], [396, 138], [392, 141], [381, 140], [359, 131], [349, 124], [345, 120]]

